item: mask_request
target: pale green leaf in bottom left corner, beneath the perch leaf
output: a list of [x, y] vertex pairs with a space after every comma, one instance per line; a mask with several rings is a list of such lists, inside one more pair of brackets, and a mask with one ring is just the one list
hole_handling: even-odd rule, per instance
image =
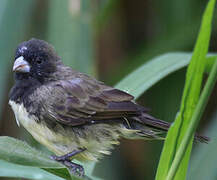
[[0, 160], [0, 177], [26, 178], [36, 180], [64, 180], [43, 169], [31, 166], [23, 166]]

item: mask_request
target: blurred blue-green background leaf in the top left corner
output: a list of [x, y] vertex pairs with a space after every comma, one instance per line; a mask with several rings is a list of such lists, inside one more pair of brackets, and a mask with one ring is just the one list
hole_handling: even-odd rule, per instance
[[[8, 80], [8, 69], [12, 63], [11, 55], [14, 54], [14, 44], [22, 41], [27, 27], [26, 22], [30, 20], [28, 14], [31, 12], [34, 5], [33, 0], [23, 0], [19, 2], [22, 8], [17, 8], [16, 1], [0, 1], [0, 82], [5, 84]], [[19, 16], [17, 16], [19, 14]], [[16, 30], [17, 35], [14, 33]], [[8, 38], [8, 36], [10, 38]], [[5, 48], [7, 47], [7, 48]], [[4, 49], [4, 50], [3, 50]], [[5, 86], [0, 88], [0, 114], [2, 113], [1, 104], [4, 100]]]

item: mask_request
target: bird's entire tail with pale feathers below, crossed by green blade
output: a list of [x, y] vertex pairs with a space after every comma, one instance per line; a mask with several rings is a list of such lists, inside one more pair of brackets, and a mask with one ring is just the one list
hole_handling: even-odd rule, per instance
[[[139, 117], [133, 117], [132, 119], [126, 119], [124, 126], [129, 130], [134, 130], [135, 133], [124, 135], [126, 138], [133, 139], [147, 139], [147, 140], [163, 140], [170, 127], [170, 123], [156, 119], [147, 113], [143, 113]], [[208, 143], [209, 138], [195, 134], [195, 141]]]

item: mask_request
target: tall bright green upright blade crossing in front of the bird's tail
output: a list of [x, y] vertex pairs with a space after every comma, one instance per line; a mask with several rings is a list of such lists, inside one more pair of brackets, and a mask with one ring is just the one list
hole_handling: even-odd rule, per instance
[[[211, 21], [214, 5], [215, 0], [211, 0], [208, 3], [208, 6], [203, 15], [202, 25], [197, 39], [197, 43], [193, 52], [190, 65], [187, 70], [186, 83], [182, 97], [180, 113], [175, 120], [175, 124], [170, 128], [167, 134], [156, 175], [157, 180], [166, 178], [185, 179], [186, 177], [193, 136], [191, 136], [191, 139], [188, 141], [188, 148], [185, 150], [184, 156], [182, 156], [180, 166], [177, 172], [177, 167], [173, 169], [173, 160], [177, 151], [180, 148], [182, 139], [188, 130], [192, 114], [194, 113], [195, 107], [199, 99], [203, 72], [206, 65], [205, 57], [208, 51], [211, 34]], [[192, 131], [193, 130], [194, 129], [192, 129]]]

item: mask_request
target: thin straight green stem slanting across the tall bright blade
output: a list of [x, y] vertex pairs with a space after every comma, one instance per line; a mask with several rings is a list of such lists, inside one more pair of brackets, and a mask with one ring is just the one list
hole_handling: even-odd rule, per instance
[[188, 128], [185, 136], [183, 137], [182, 143], [180, 144], [180, 147], [179, 147], [179, 149], [175, 155], [175, 158], [174, 158], [173, 163], [171, 165], [171, 168], [168, 172], [166, 180], [174, 179], [174, 176], [178, 170], [178, 167], [179, 167], [180, 162], [183, 158], [183, 155], [187, 149], [187, 146], [188, 146], [190, 140], [193, 138], [193, 134], [194, 134], [196, 127], [199, 123], [199, 120], [200, 120], [200, 118], [204, 112], [204, 109], [206, 107], [206, 104], [208, 102], [209, 96], [212, 92], [212, 89], [215, 85], [216, 80], [217, 80], [217, 60], [216, 60], [214, 66], [211, 70], [211, 73], [208, 77], [206, 85], [202, 91], [201, 97], [198, 101], [198, 104], [195, 108], [195, 112], [194, 112], [192, 119], [190, 121], [189, 128]]

